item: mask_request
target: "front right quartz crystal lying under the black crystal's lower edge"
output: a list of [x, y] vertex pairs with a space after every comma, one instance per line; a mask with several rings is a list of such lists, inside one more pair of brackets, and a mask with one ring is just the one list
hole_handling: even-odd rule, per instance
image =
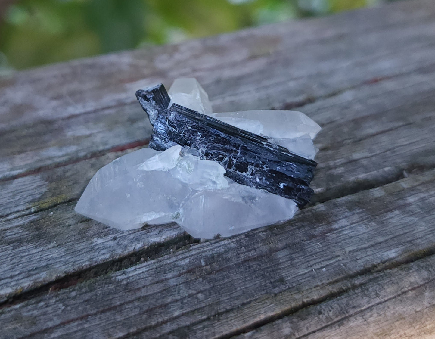
[[181, 206], [177, 223], [195, 238], [224, 237], [291, 219], [293, 200], [229, 181], [228, 188], [199, 191]]

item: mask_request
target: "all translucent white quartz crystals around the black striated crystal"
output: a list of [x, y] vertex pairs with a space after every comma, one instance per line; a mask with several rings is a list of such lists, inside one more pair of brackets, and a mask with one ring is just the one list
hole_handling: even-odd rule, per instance
[[[180, 104], [227, 124], [262, 135], [305, 158], [314, 158], [318, 124], [297, 111], [212, 113], [207, 93], [194, 78], [174, 81], [168, 94]], [[196, 238], [230, 236], [284, 222], [296, 203], [224, 177], [215, 161], [175, 145], [142, 148], [107, 164], [91, 179], [75, 210], [123, 230], [177, 222]]]

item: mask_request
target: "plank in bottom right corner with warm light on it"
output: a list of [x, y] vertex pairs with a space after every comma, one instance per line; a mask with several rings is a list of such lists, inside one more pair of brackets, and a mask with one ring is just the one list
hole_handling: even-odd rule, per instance
[[434, 338], [435, 258], [358, 277], [357, 287], [234, 338]]

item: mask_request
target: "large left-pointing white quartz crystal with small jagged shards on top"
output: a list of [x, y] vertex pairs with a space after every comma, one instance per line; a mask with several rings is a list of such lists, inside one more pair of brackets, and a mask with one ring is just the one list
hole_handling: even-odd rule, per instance
[[90, 180], [75, 210], [127, 230], [177, 221], [181, 203], [196, 190], [228, 187], [220, 164], [181, 157], [180, 149], [142, 148], [112, 161]]

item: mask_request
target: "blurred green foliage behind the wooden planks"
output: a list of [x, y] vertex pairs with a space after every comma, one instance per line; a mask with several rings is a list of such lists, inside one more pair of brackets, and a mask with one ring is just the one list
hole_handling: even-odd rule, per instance
[[0, 70], [174, 43], [382, 0], [18, 0], [0, 22]]

